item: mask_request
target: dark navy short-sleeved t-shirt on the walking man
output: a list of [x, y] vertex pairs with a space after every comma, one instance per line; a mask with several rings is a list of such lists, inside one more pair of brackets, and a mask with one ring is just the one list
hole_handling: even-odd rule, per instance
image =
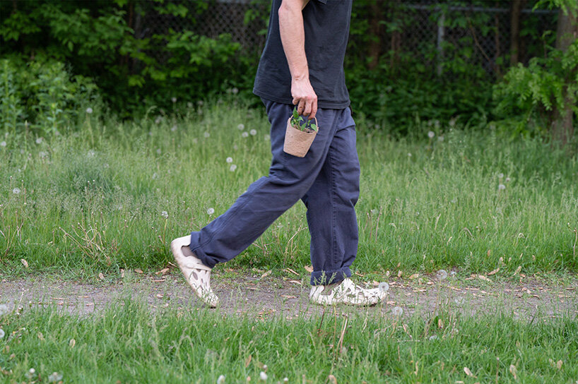
[[[274, 102], [293, 104], [291, 73], [281, 44], [278, 10], [282, 0], [273, 0], [269, 31], [253, 93]], [[346, 108], [350, 104], [343, 58], [349, 37], [353, 0], [310, 0], [303, 8], [305, 56], [309, 81], [320, 108]]]

